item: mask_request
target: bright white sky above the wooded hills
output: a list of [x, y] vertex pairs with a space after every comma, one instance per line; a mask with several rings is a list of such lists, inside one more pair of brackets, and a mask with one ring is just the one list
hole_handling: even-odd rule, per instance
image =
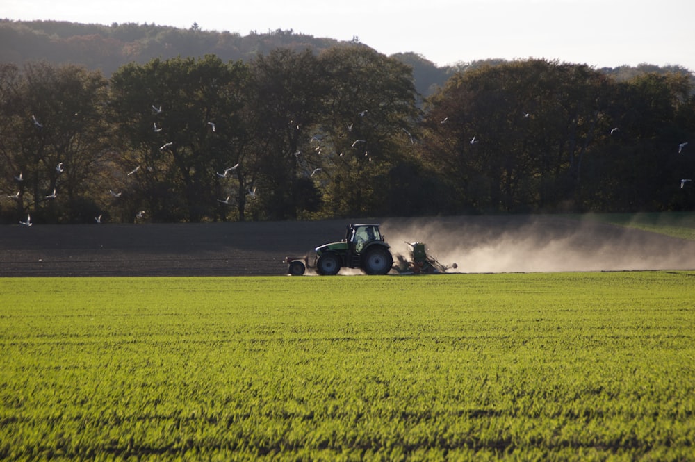
[[357, 36], [380, 53], [412, 51], [440, 66], [533, 57], [695, 71], [693, 0], [2, 0], [0, 17]]

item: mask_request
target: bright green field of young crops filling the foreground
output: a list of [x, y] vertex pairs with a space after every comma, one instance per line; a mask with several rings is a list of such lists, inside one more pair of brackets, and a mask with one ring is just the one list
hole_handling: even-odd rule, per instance
[[695, 272], [0, 279], [0, 459], [695, 459]]

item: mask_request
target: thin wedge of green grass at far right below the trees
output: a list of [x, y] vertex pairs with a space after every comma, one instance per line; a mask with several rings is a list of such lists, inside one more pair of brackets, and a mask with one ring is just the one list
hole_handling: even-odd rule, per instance
[[597, 213], [577, 215], [582, 220], [641, 229], [652, 233], [664, 234], [673, 238], [695, 240], [695, 213]]

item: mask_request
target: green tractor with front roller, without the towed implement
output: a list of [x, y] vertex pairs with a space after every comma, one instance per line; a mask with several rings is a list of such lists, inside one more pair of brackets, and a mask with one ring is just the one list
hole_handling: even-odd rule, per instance
[[301, 276], [306, 267], [315, 268], [318, 274], [330, 276], [338, 274], [341, 268], [359, 268], [366, 274], [387, 274], [393, 266], [393, 256], [379, 225], [348, 224], [345, 239], [316, 247], [313, 265], [309, 257], [286, 257], [288, 273]]

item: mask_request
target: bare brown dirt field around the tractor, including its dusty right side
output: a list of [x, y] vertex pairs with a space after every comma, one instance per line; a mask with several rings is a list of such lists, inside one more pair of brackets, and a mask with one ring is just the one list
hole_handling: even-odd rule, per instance
[[[695, 242], [553, 215], [370, 219], [393, 253], [425, 242], [456, 272], [693, 270]], [[350, 220], [0, 228], [0, 277], [265, 276], [341, 240]]]

